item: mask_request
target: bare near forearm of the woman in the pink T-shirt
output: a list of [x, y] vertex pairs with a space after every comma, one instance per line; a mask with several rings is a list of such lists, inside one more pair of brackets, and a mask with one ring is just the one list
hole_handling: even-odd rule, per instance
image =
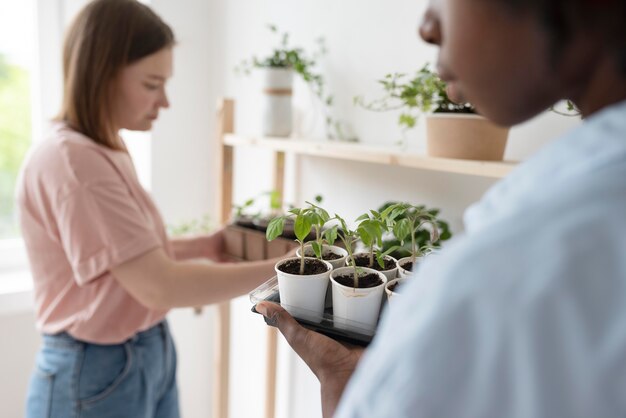
[[157, 248], [114, 267], [111, 273], [143, 305], [170, 309], [243, 295], [272, 277], [278, 260], [215, 264], [175, 261]]

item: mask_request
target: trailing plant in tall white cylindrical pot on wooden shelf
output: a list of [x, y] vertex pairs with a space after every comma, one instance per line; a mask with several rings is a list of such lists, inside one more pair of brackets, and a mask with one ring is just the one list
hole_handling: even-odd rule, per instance
[[296, 73], [309, 86], [320, 100], [324, 112], [326, 134], [329, 139], [355, 140], [347, 138], [341, 123], [330, 115], [332, 95], [326, 92], [324, 77], [315, 70], [317, 60], [326, 54], [323, 38], [317, 39], [317, 49], [308, 55], [303, 48], [289, 45], [289, 34], [280, 33], [275, 25], [269, 30], [279, 36], [280, 43], [265, 58], [253, 56], [243, 60], [235, 70], [250, 74], [253, 69], [261, 69], [264, 76], [263, 134], [266, 136], [287, 137], [292, 131], [292, 85]]

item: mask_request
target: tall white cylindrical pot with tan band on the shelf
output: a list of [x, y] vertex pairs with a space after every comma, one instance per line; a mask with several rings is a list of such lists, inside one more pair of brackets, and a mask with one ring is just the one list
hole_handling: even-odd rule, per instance
[[262, 131], [265, 136], [291, 135], [291, 94], [293, 70], [290, 68], [263, 69]]

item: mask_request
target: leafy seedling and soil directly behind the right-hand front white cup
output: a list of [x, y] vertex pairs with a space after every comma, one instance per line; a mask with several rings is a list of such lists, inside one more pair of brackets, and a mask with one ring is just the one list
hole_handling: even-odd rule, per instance
[[357, 253], [350, 262], [354, 262], [359, 267], [367, 267], [382, 272], [387, 280], [396, 278], [398, 267], [396, 259], [390, 254], [396, 249], [391, 247], [382, 251], [383, 233], [393, 224], [389, 217], [383, 217], [380, 212], [371, 210], [356, 219], [359, 222], [356, 233], [363, 243], [366, 252]]

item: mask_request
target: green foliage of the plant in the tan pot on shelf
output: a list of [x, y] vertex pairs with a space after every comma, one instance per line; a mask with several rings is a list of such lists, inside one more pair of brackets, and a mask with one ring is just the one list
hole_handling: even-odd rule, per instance
[[401, 110], [398, 124], [403, 131], [415, 127], [418, 118], [428, 113], [476, 113], [469, 103], [455, 103], [446, 93], [446, 83], [424, 65], [414, 76], [393, 73], [382, 80], [385, 94], [371, 102], [362, 96], [354, 98], [354, 103], [367, 110], [384, 112]]

